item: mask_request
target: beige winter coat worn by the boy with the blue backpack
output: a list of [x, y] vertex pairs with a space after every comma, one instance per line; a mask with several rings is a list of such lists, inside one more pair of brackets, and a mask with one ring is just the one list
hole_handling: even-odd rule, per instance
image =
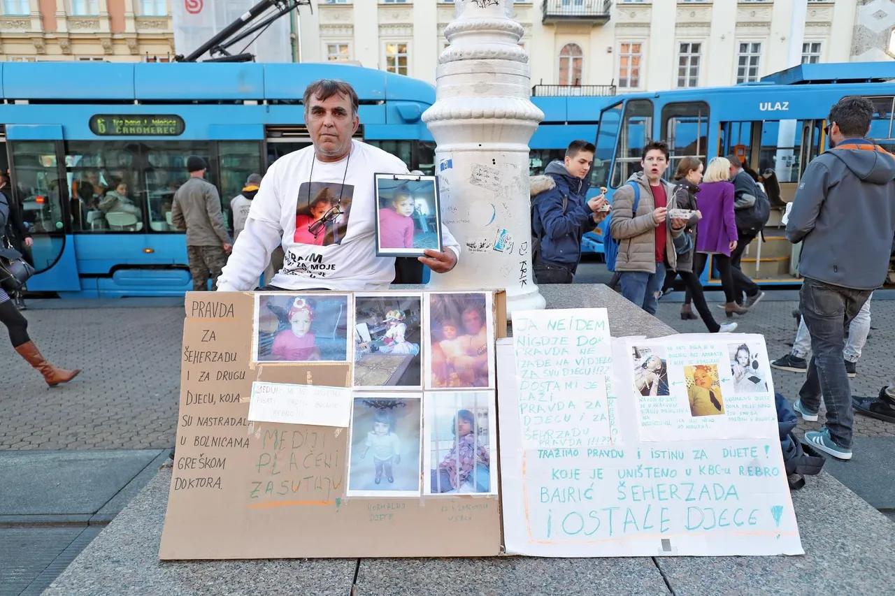
[[[629, 184], [623, 184], [612, 197], [609, 231], [612, 237], [619, 241], [616, 271], [655, 273], [658, 226], [652, 219], [652, 211], [656, 209], [656, 203], [643, 172], [628, 178], [628, 182], [632, 180], [640, 186], [640, 203], [637, 205], [636, 214], [631, 213], [634, 207], [634, 189]], [[668, 209], [676, 209], [674, 185], [667, 180], [662, 180], [661, 183], [665, 186]], [[668, 228], [668, 234], [665, 236], [665, 259], [673, 269], [678, 266], [673, 238], [683, 234], [684, 230], [672, 230], [670, 218], [666, 219], [662, 226]]]

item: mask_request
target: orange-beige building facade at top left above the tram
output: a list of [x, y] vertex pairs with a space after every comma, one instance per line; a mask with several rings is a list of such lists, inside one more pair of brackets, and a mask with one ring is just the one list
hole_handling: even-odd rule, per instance
[[0, 60], [167, 62], [174, 55], [168, 3], [0, 0]]

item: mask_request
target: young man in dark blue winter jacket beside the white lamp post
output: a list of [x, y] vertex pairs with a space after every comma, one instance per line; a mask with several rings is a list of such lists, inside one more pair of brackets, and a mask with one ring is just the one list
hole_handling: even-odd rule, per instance
[[532, 231], [540, 245], [533, 253], [537, 284], [571, 284], [581, 260], [581, 238], [609, 213], [601, 194], [586, 199], [587, 175], [596, 148], [573, 140], [564, 161], [552, 161], [544, 175], [532, 176]]

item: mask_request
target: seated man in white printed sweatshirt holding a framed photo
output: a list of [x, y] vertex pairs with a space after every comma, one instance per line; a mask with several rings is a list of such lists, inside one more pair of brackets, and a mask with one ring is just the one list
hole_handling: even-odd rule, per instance
[[[277, 159], [251, 201], [249, 217], [217, 289], [252, 290], [282, 243], [283, 268], [270, 289], [384, 290], [395, 278], [394, 257], [376, 256], [374, 174], [408, 174], [399, 158], [353, 140], [360, 119], [351, 85], [323, 79], [304, 92], [312, 147]], [[282, 238], [282, 240], [281, 240]], [[455, 267], [460, 245], [442, 227], [444, 252], [420, 261], [436, 273]]]

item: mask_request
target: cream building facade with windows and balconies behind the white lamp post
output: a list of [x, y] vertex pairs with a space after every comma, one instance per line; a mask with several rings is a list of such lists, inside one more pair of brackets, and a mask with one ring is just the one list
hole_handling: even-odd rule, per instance
[[[434, 83], [453, 0], [313, 1], [313, 14], [299, 18], [301, 61], [351, 61]], [[793, 2], [516, 0], [514, 8], [533, 84], [615, 85], [625, 92], [725, 86], [786, 68]], [[862, 21], [873, 27], [859, 29]], [[797, 57], [892, 59], [893, 26], [892, 0], [808, 0]], [[864, 40], [857, 46], [856, 36]]]

